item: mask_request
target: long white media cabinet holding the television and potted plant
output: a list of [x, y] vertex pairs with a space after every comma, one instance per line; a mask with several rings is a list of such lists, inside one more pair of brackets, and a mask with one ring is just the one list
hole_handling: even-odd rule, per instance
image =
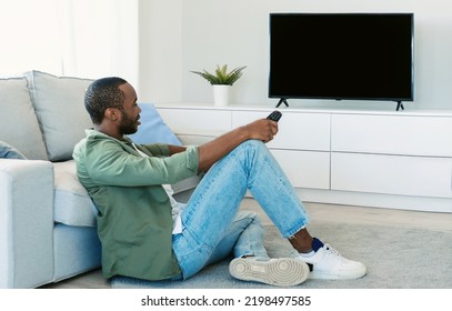
[[[340, 104], [339, 104], [340, 106]], [[303, 201], [452, 212], [452, 112], [285, 108], [268, 143]], [[157, 104], [178, 134], [219, 136], [273, 107]]]

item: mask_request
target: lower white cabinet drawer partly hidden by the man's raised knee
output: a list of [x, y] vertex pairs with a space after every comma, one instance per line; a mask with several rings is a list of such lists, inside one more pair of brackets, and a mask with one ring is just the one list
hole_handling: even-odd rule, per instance
[[293, 187], [330, 188], [330, 153], [271, 150]]

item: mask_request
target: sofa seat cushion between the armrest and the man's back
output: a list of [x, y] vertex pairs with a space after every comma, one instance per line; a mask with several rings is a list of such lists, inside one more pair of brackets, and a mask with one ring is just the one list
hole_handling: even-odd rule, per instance
[[53, 163], [54, 221], [67, 225], [96, 227], [97, 209], [77, 177], [73, 160]]

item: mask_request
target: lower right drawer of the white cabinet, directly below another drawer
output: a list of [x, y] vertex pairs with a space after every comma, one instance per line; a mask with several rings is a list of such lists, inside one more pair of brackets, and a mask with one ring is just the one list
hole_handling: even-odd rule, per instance
[[331, 189], [452, 198], [452, 159], [331, 153]]

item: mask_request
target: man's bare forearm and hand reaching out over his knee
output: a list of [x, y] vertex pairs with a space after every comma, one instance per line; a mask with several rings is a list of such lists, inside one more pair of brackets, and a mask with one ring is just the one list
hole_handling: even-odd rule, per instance
[[243, 141], [255, 139], [269, 142], [278, 133], [278, 122], [268, 119], [257, 120], [237, 128], [199, 147], [199, 170], [208, 171], [218, 160], [231, 152]]

